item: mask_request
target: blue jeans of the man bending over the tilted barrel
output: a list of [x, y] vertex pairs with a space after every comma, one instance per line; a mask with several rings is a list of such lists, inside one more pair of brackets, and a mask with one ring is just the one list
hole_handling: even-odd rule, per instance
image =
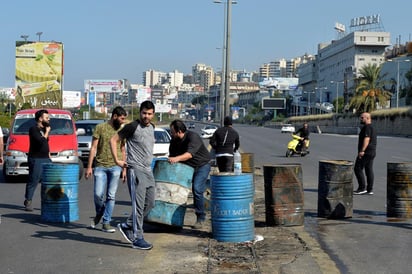
[[205, 205], [203, 201], [203, 193], [206, 190], [206, 182], [209, 177], [210, 164], [197, 167], [193, 173], [193, 202], [195, 206], [195, 213], [197, 221], [204, 221], [206, 219]]

